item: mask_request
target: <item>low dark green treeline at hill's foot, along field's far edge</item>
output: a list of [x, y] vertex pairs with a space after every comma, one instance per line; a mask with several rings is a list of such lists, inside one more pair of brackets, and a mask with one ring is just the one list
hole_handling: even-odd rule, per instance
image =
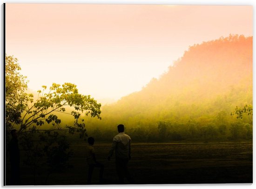
[[[91, 128], [89, 136], [93, 136], [97, 142], [110, 142], [116, 133], [114, 129], [105, 130], [100, 127]], [[126, 130], [133, 142], [227, 142], [227, 141], [251, 141], [252, 124], [233, 122], [231, 124], [210, 123], [202, 125], [197, 122], [187, 124], [160, 121], [155, 125], [128, 128]]]

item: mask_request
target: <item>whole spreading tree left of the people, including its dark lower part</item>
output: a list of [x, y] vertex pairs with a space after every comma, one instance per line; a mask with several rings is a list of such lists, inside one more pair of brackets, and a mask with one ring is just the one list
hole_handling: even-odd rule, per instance
[[[34, 100], [33, 96], [29, 95], [29, 101], [26, 104], [26, 110], [21, 117], [18, 133], [22, 134], [23, 149], [26, 153], [26, 164], [34, 170], [34, 184], [36, 184], [35, 176], [40, 167], [40, 159], [42, 156], [47, 156], [47, 172], [48, 176], [54, 172], [64, 171], [69, 168], [67, 161], [71, 156], [69, 143], [61, 131], [66, 131], [70, 134], [78, 132], [80, 138], [87, 137], [84, 119], [81, 119], [81, 114], [91, 115], [101, 119], [101, 104], [97, 104], [94, 98], [89, 95], [81, 95], [78, 93], [76, 85], [65, 83], [63, 85], [53, 84], [49, 91], [46, 86], [42, 86], [43, 90], [38, 91], [38, 98]], [[69, 111], [66, 112], [67, 107]], [[61, 119], [58, 114], [63, 113], [74, 117], [74, 124], [61, 125]], [[41, 126], [47, 124], [46, 127]]]

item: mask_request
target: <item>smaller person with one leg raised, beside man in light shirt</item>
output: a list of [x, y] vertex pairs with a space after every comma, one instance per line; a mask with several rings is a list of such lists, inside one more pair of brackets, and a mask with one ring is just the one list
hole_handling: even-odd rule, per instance
[[88, 146], [86, 147], [86, 159], [89, 166], [88, 184], [91, 184], [94, 167], [100, 168], [100, 183], [103, 182], [104, 165], [96, 161], [93, 145], [94, 145], [94, 138], [88, 137]]

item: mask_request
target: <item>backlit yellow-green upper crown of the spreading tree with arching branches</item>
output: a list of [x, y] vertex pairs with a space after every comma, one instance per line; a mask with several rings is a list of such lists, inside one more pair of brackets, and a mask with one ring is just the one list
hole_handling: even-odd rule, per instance
[[[80, 137], [86, 137], [86, 129], [84, 119], [80, 119], [81, 113], [91, 115], [101, 119], [101, 104], [98, 104], [90, 95], [82, 95], [78, 93], [76, 85], [65, 83], [63, 85], [55, 84], [47, 90], [47, 86], [42, 86], [42, 91], [38, 91], [38, 98], [34, 101], [32, 95], [29, 95], [27, 101], [25, 114], [22, 115], [19, 124], [18, 133], [25, 131], [45, 131], [48, 129], [41, 129], [43, 124], [52, 124], [53, 130], [68, 130], [69, 133], [74, 134], [75, 131], [80, 132]], [[66, 107], [73, 107], [74, 109], [66, 112]], [[65, 113], [74, 117], [73, 125], [66, 125], [65, 129], [60, 126], [61, 119], [58, 113]]]

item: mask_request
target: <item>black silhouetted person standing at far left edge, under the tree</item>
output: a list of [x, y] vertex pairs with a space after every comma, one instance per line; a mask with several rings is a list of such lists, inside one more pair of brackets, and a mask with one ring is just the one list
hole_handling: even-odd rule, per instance
[[11, 164], [11, 178], [10, 185], [20, 184], [20, 149], [18, 144], [17, 130], [11, 130], [12, 139], [8, 143], [8, 151], [10, 155]]

